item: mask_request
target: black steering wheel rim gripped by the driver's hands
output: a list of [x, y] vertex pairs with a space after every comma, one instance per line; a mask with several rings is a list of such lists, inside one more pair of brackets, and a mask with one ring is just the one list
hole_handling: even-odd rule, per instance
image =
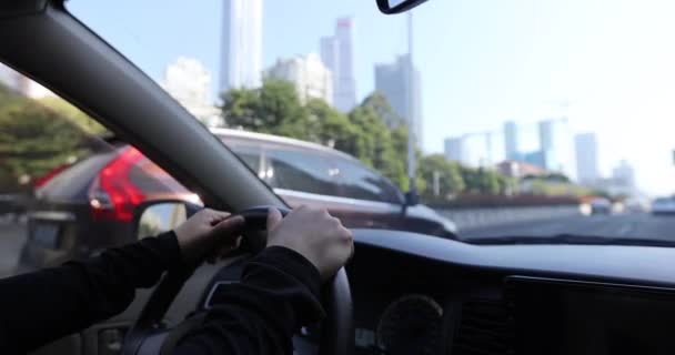
[[[290, 211], [279, 209], [282, 215]], [[242, 246], [252, 255], [261, 252], [265, 246], [265, 231], [268, 206], [244, 210], [235, 215], [244, 217], [244, 233]], [[143, 306], [139, 317], [124, 337], [123, 355], [164, 355], [171, 354], [175, 345], [177, 333], [183, 334], [200, 316], [187, 320], [175, 329], [162, 327], [162, 320], [169, 306], [179, 294], [184, 283], [194, 273], [192, 270], [170, 271], [154, 288]], [[352, 318], [352, 295], [344, 268], [322, 288], [322, 304], [326, 311], [326, 318], [321, 323], [321, 338], [319, 354], [321, 355], [352, 355], [354, 353], [354, 325]], [[204, 313], [203, 313], [204, 314]], [[202, 314], [202, 316], [203, 316]], [[192, 322], [195, 320], [197, 322]], [[182, 332], [181, 328], [182, 327]]]

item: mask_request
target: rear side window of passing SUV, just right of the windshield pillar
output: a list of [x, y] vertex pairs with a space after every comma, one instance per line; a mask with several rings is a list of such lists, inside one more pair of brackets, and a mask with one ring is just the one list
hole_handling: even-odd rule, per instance
[[340, 193], [336, 170], [328, 156], [293, 149], [265, 150], [272, 187], [336, 196]]

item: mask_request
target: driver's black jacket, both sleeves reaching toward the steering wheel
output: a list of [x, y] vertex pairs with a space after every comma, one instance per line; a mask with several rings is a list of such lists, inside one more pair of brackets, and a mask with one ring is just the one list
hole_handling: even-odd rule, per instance
[[[0, 281], [0, 354], [21, 354], [127, 308], [135, 288], [181, 267], [173, 232], [111, 248], [84, 262]], [[302, 325], [323, 316], [320, 277], [302, 255], [269, 247], [244, 266], [241, 283], [219, 288], [203, 324], [178, 354], [291, 353]]]

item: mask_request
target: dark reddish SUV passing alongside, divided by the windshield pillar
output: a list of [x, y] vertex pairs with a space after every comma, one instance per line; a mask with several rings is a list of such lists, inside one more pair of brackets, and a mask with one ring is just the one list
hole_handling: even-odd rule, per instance
[[[424, 205], [405, 206], [387, 179], [336, 150], [238, 130], [212, 132], [291, 206], [323, 206], [347, 227], [389, 229], [454, 239], [454, 223]], [[133, 210], [144, 201], [201, 203], [171, 175], [124, 142], [49, 174], [28, 211], [24, 268], [88, 256], [128, 243]], [[59, 168], [60, 169], [60, 168]], [[78, 221], [74, 223], [72, 221]]]

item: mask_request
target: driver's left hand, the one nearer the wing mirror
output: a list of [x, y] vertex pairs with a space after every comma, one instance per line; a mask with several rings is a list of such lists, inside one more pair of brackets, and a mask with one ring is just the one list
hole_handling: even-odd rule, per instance
[[226, 219], [229, 215], [226, 212], [204, 209], [173, 231], [185, 263], [199, 264], [236, 248], [244, 219]]

